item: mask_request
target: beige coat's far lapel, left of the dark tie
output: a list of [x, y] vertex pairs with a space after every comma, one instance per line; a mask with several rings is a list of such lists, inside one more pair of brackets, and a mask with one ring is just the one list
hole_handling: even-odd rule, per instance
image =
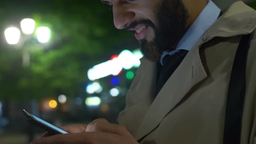
[[126, 95], [125, 110], [118, 115], [118, 123], [125, 125], [133, 135], [154, 100], [156, 67], [156, 62], [150, 62], [145, 58], [141, 59], [141, 65]]

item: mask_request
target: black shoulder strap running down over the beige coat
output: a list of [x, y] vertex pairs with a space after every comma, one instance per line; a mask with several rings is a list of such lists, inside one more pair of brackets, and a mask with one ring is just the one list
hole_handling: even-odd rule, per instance
[[240, 144], [246, 89], [246, 60], [253, 33], [244, 35], [236, 50], [226, 103], [223, 144]]

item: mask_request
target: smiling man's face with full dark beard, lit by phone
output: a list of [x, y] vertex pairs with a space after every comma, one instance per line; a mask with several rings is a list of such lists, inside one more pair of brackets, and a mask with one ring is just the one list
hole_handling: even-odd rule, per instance
[[102, 0], [113, 9], [117, 29], [135, 33], [141, 52], [157, 62], [163, 51], [176, 49], [188, 25], [182, 0]]

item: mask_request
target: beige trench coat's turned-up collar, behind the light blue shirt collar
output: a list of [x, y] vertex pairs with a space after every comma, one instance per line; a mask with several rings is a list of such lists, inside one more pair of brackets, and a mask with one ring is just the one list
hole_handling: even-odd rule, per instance
[[231, 37], [252, 33], [256, 27], [256, 11], [242, 1], [233, 3], [201, 39], [206, 43], [214, 37]]

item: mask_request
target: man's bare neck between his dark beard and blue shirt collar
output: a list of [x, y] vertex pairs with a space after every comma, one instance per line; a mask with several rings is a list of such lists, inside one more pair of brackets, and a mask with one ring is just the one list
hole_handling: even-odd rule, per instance
[[188, 27], [194, 23], [194, 20], [196, 20], [203, 8], [206, 7], [207, 3], [207, 0], [184, 0], [184, 4], [187, 7], [188, 13], [190, 14]]

